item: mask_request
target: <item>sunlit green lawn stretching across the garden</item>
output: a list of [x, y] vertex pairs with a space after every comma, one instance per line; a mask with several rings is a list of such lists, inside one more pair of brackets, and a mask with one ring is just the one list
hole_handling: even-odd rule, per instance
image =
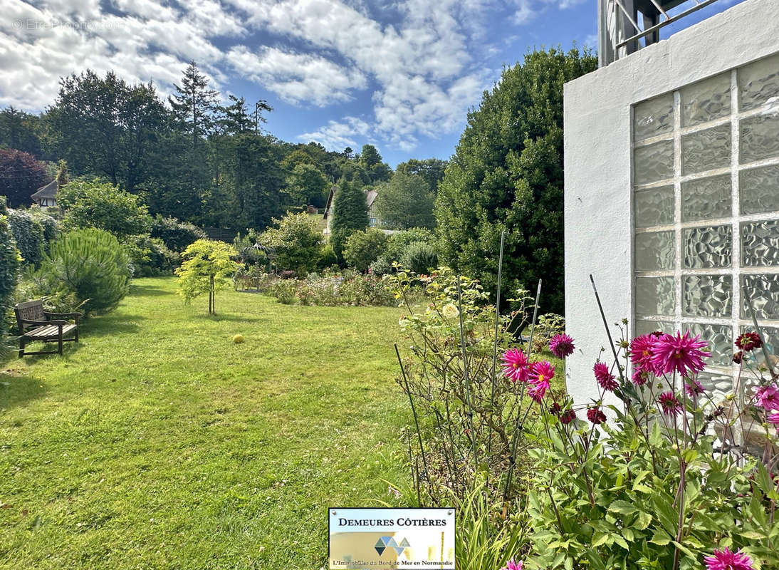
[[0, 372], [0, 568], [310, 570], [328, 505], [407, 480], [398, 310], [174, 286]]

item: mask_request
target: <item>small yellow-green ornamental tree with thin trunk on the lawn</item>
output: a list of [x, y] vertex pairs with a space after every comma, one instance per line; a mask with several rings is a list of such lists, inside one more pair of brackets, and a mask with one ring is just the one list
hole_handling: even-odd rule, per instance
[[216, 313], [214, 296], [220, 289], [233, 284], [232, 277], [238, 270], [238, 263], [231, 257], [238, 256], [235, 248], [224, 242], [198, 239], [192, 243], [182, 257], [184, 262], [175, 273], [178, 275], [178, 293], [185, 303], [208, 293], [208, 313]]

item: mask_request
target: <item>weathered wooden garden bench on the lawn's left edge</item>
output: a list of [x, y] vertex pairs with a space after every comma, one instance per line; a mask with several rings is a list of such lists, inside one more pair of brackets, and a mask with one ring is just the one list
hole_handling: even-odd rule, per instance
[[[19, 326], [19, 358], [26, 354], [62, 354], [63, 342], [79, 342], [81, 313], [49, 313], [44, 311], [41, 299], [17, 303], [13, 311]], [[76, 324], [69, 323], [66, 318], [72, 318]], [[58, 350], [25, 352], [24, 347], [28, 342], [56, 342]]]

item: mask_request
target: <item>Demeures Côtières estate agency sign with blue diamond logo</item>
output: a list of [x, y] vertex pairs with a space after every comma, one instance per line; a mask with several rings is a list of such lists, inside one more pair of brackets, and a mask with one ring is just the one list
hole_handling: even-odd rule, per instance
[[453, 508], [330, 508], [330, 569], [454, 570]]

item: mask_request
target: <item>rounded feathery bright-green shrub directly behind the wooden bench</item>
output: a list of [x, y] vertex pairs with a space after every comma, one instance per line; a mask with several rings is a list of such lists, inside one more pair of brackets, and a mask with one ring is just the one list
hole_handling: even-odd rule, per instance
[[110, 233], [79, 229], [51, 244], [35, 276], [49, 295], [72, 294], [85, 313], [107, 313], [129, 291], [130, 259]]

